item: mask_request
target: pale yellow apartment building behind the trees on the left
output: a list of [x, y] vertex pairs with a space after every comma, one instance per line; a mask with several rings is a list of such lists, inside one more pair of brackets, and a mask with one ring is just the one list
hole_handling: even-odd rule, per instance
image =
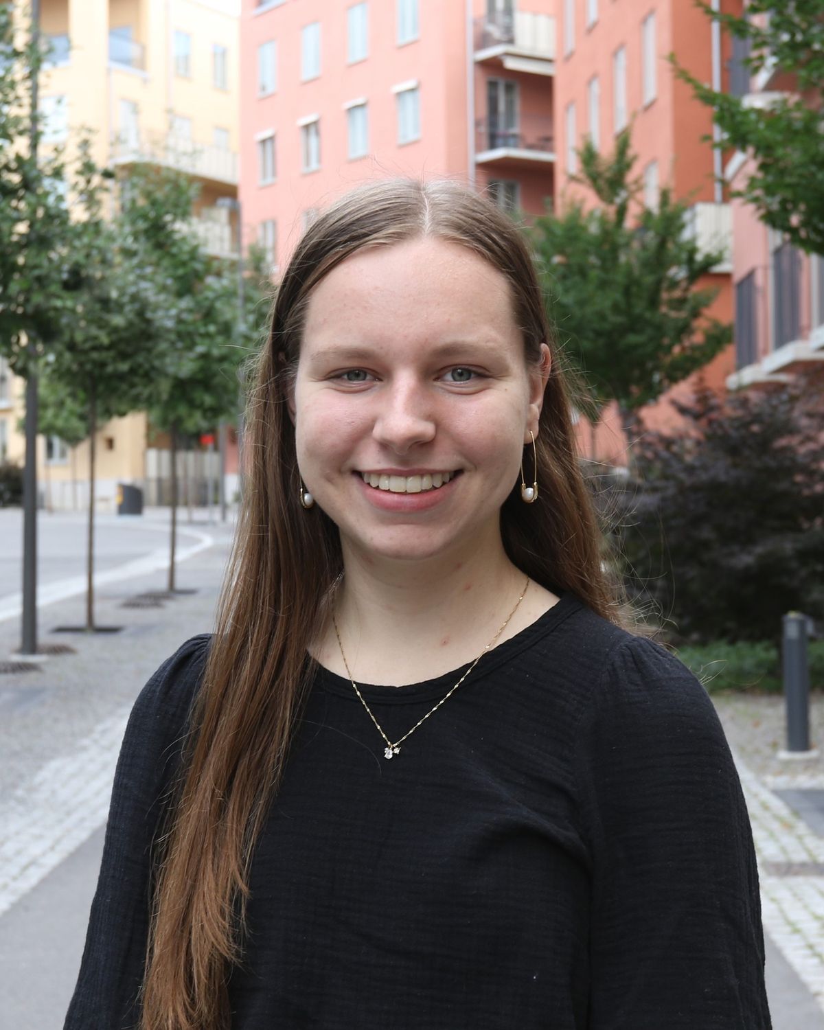
[[[150, 160], [186, 172], [201, 187], [193, 232], [211, 253], [232, 255], [234, 215], [216, 202], [237, 197], [240, 0], [40, 0], [40, 28], [50, 44], [39, 87], [44, 145], [70, 148], [84, 127], [95, 132], [98, 164], [128, 174], [130, 164]], [[0, 460], [23, 462], [24, 392], [0, 358]], [[117, 483], [157, 497], [168, 457], [148, 448], [146, 435], [139, 413], [101, 427], [102, 510], [113, 510]], [[47, 506], [82, 505], [88, 468], [88, 442], [69, 449], [38, 441]]]

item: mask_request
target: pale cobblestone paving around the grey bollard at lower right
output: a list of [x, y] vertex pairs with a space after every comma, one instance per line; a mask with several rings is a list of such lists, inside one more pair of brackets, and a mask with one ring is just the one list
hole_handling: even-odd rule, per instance
[[[775, 790], [824, 788], [824, 757], [782, 760], [781, 697], [716, 697], [753, 828], [764, 930], [824, 1010], [824, 837]], [[811, 739], [824, 698], [811, 705]]]

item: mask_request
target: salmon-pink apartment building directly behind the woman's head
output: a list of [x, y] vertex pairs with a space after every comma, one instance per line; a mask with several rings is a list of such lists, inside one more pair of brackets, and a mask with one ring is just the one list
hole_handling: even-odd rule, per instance
[[284, 260], [314, 211], [387, 175], [540, 213], [554, 192], [554, 0], [244, 0], [247, 232]]

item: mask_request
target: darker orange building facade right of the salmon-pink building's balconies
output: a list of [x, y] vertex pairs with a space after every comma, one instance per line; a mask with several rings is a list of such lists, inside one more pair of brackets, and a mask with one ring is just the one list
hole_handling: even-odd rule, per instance
[[[715, 0], [713, 6], [740, 13], [742, 5], [741, 0]], [[711, 111], [667, 61], [675, 54], [696, 78], [729, 91], [741, 68], [731, 40], [683, 0], [558, 0], [558, 48], [556, 204], [572, 197], [584, 203], [593, 199], [571, 181], [584, 138], [609, 153], [618, 133], [630, 127], [638, 158], [632, 174], [642, 178], [645, 203], [654, 206], [659, 190], [667, 185], [676, 199], [690, 205], [690, 228], [698, 243], [724, 251], [723, 262], [698, 286], [718, 289], [708, 314], [732, 321], [731, 211], [717, 181], [721, 158], [702, 139], [713, 133]], [[711, 388], [723, 389], [733, 367], [730, 347], [700, 375]], [[653, 428], [673, 425], [678, 416], [670, 399], [688, 397], [692, 386], [687, 380], [645, 408], [645, 423]], [[624, 462], [626, 443], [613, 409], [584, 439], [590, 456]]]

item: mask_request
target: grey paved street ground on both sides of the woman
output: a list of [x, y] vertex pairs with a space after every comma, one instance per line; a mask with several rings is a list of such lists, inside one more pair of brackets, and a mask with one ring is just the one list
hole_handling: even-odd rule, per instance
[[[0, 512], [4, 534], [18, 537], [19, 514]], [[0, 677], [0, 1030], [62, 1026], [80, 961], [111, 778], [129, 710], [161, 661], [186, 638], [212, 626], [230, 529], [208, 525], [203, 512], [193, 526], [181, 527], [181, 550], [199, 550], [180, 562], [178, 582], [195, 592], [162, 607], [123, 607], [140, 593], [164, 589], [162, 563], [153, 571], [123, 573], [140, 570], [141, 562], [151, 564], [158, 549], [165, 553], [166, 540], [158, 531], [163, 523], [151, 526], [148, 521], [118, 524], [110, 519], [105, 527], [103, 573], [121, 570], [121, 578], [99, 588], [98, 618], [121, 626], [119, 631], [52, 632], [57, 625], [82, 621], [83, 596], [74, 593], [41, 608], [39, 626], [42, 641], [69, 643], [76, 654], [48, 657], [40, 672]], [[81, 527], [74, 516], [66, 515], [43, 519], [40, 531], [42, 550], [61, 551], [72, 542], [80, 549], [79, 554], [61, 553], [62, 575], [50, 582], [65, 588], [82, 568]], [[199, 535], [210, 543], [195, 539]], [[16, 579], [19, 557], [4, 551], [2, 560], [6, 573]], [[4, 590], [6, 586], [4, 582]], [[8, 604], [9, 593], [0, 600]], [[3, 658], [18, 646], [19, 633], [18, 618], [0, 621]], [[741, 718], [730, 722], [730, 731], [742, 724]], [[766, 940], [774, 1027], [824, 1030], [824, 1014], [813, 996], [815, 991], [822, 997], [824, 963], [811, 965], [809, 956], [795, 951], [784, 933], [777, 899], [784, 914], [798, 902], [777, 893], [781, 883], [763, 861], [775, 857], [768, 844], [774, 832], [783, 834], [781, 854], [789, 860], [801, 846], [809, 854], [824, 854], [824, 827], [802, 824], [781, 797], [742, 768], [759, 852], [765, 931], [774, 928], [781, 941], [779, 949], [772, 939]], [[794, 878], [787, 887], [795, 885], [797, 893], [805, 879], [811, 878]], [[809, 922], [816, 921], [811, 908]], [[809, 932], [820, 934], [820, 926]]]

